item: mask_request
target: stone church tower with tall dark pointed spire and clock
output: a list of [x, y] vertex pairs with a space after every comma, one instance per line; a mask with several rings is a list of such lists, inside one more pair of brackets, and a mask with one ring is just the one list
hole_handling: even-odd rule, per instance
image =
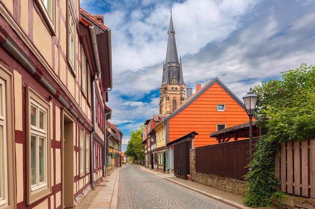
[[168, 36], [168, 48], [165, 63], [163, 63], [160, 88], [160, 114], [174, 112], [186, 99], [186, 84], [183, 78], [182, 59], [180, 58], [179, 62], [177, 55], [172, 10]]

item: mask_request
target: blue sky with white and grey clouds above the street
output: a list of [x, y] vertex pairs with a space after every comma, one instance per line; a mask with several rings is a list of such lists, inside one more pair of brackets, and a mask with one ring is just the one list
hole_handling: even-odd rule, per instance
[[[130, 132], [159, 114], [170, 5], [187, 87], [219, 78], [241, 100], [250, 87], [315, 64], [315, 1], [81, 0], [112, 31], [112, 123]], [[243, 101], [243, 100], [242, 100]]]

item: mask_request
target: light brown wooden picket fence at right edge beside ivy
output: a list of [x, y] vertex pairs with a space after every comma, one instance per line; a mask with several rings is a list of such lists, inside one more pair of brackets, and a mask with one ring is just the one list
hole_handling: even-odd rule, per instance
[[315, 198], [315, 139], [283, 143], [275, 166], [278, 190]]

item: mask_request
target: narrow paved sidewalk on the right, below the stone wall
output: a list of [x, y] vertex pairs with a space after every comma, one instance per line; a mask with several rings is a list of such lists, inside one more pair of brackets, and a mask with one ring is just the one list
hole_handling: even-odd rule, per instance
[[[151, 174], [153, 174], [155, 176], [159, 176], [161, 178], [164, 178], [164, 179], [166, 179], [168, 181], [171, 181], [173, 183], [179, 184], [179, 185], [181, 185], [183, 187], [186, 187], [188, 189], [197, 191], [198, 193], [204, 194], [204, 195], [206, 195], [208, 197], [211, 197], [213, 199], [216, 199], [216, 200], [218, 200], [220, 202], [223, 202], [225, 204], [231, 205], [233, 207], [242, 208], [242, 209], [252, 208], [252, 207], [247, 207], [247, 206], [243, 205], [240, 202], [235, 202], [235, 201], [232, 201], [230, 199], [226, 199], [226, 198], [223, 198], [221, 196], [217, 196], [217, 195], [214, 195], [212, 193], [209, 193], [208, 192], [208, 190], [209, 190], [208, 188], [212, 188], [210, 186], [202, 185], [202, 184], [199, 184], [197, 182], [190, 181], [190, 180], [181, 179], [181, 178], [178, 178], [178, 177], [176, 177], [176, 176], [174, 176], [172, 174], [166, 174], [166, 173], [158, 172], [158, 171], [155, 171], [155, 170], [152, 170], [152, 169], [149, 169], [149, 168], [145, 168], [143, 166], [141, 166], [141, 170], [143, 170], [145, 172], [148, 172], [148, 173], [151, 173]], [[213, 190], [217, 191], [218, 189], [214, 188]], [[227, 192], [222, 192], [222, 193], [227, 193]], [[228, 195], [230, 196], [230, 195], [233, 195], [233, 194], [228, 193]], [[224, 195], [224, 196], [227, 196], [227, 195]]]

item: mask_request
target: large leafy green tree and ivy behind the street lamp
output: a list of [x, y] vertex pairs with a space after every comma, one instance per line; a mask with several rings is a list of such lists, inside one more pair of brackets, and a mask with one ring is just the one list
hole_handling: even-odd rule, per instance
[[269, 206], [279, 185], [275, 178], [274, 156], [281, 143], [302, 140], [315, 133], [315, 67], [302, 64], [300, 68], [282, 73], [282, 80], [263, 82], [254, 88], [259, 96], [258, 125], [268, 133], [256, 143], [256, 152], [247, 174], [250, 180], [244, 198], [250, 206]]

